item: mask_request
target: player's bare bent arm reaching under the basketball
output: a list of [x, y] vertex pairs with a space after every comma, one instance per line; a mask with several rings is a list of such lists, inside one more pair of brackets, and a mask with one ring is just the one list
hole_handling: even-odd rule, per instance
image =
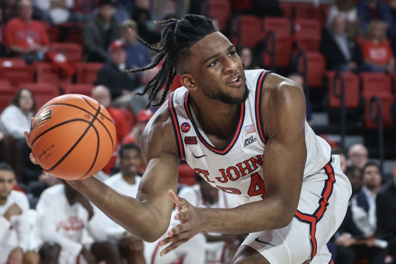
[[166, 107], [147, 124], [141, 139], [147, 169], [136, 199], [122, 195], [95, 177], [67, 181], [133, 235], [156, 241], [169, 226], [173, 202], [168, 191], [177, 189], [179, 156]]

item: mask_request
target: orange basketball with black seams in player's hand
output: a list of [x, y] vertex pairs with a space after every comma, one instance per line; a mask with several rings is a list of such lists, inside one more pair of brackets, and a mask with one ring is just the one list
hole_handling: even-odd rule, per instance
[[29, 140], [34, 158], [44, 170], [65, 180], [80, 180], [109, 162], [116, 128], [109, 112], [97, 101], [65, 94], [38, 110]]

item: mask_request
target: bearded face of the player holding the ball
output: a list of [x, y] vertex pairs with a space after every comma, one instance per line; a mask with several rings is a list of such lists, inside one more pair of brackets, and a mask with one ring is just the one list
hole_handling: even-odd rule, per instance
[[249, 90], [242, 61], [223, 34], [209, 34], [190, 51], [188, 71], [206, 97], [228, 104], [240, 104], [247, 99]]

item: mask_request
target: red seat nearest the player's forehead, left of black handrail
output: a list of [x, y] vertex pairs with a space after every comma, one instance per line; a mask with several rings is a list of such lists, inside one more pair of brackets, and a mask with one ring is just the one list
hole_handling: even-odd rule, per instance
[[254, 15], [238, 15], [233, 21], [232, 43], [235, 46], [255, 48], [263, 38], [263, 25], [261, 19]]

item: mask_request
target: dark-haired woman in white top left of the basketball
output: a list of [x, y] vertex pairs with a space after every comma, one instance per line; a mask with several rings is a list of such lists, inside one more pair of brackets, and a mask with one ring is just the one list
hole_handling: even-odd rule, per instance
[[18, 90], [10, 105], [0, 115], [1, 128], [16, 140], [25, 140], [24, 131], [30, 130], [30, 119], [34, 117], [36, 103], [29, 89]]

